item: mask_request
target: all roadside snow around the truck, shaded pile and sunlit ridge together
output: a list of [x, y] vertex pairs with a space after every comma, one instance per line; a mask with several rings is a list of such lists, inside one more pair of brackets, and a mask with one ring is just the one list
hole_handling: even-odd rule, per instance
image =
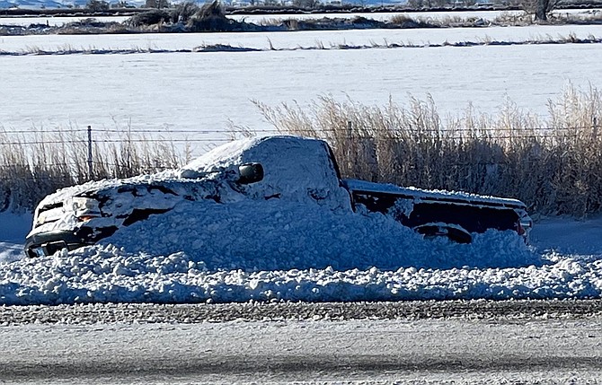
[[100, 245], [34, 259], [21, 253], [31, 215], [0, 214], [0, 302], [602, 297], [602, 217], [542, 218], [530, 247], [511, 233], [459, 245], [382, 215], [267, 207], [181, 206]]

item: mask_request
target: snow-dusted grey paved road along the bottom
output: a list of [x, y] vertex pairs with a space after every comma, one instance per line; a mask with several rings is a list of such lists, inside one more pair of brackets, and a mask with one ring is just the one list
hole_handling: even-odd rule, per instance
[[[412, 303], [412, 306], [426, 309], [428, 303]], [[441, 308], [447, 308], [441, 302], [430, 303], [435, 315], [437, 309], [440, 312]], [[558, 307], [558, 302], [538, 303], [543, 307]], [[477, 307], [485, 304], [479, 302]], [[519, 307], [524, 308], [526, 304]], [[466, 311], [463, 305], [476, 306], [460, 302], [448, 305], [461, 311]], [[499, 305], [500, 302], [495, 302], [487, 306]], [[238, 306], [241, 307], [235, 309], [239, 311], [251, 306], [249, 309], [262, 309], [265, 313], [267, 309], [290, 311], [292, 304]], [[315, 309], [342, 309], [337, 304], [314, 306]], [[363, 307], [365, 311], [389, 308], [385, 313], [392, 314], [399, 306], [353, 304], [351, 308]], [[454, 381], [484, 384], [491, 381], [600, 383], [602, 379], [602, 315], [599, 313], [571, 316], [548, 309], [537, 315], [517, 312], [480, 317], [468, 311], [462, 317], [451, 319], [349, 317], [343, 320], [332, 320], [331, 316], [294, 320], [294, 314], [274, 320], [274, 314], [266, 313], [266, 318], [272, 320], [85, 321], [82, 314], [102, 314], [101, 308], [99, 305], [80, 306], [77, 311], [68, 306], [3, 308], [0, 316], [5, 322], [8, 312], [37, 312], [41, 319], [43, 314], [57, 311], [79, 312], [81, 322], [68, 318], [58, 323], [9, 322], [0, 328], [0, 383]], [[305, 305], [301, 308], [305, 309]], [[96, 311], [90, 311], [93, 309]], [[120, 310], [123, 315], [128, 314], [128, 309], [147, 311], [143, 312], [144, 317], [152, 317], [153, 310], [164, 314], [166, 309], [172, 309], [194, 315], [193, 309], [224, 311], [231, 306], [106, 305], [103, 309], [119, 319]], [[239, 318], [244, 317], [239, 314]]]

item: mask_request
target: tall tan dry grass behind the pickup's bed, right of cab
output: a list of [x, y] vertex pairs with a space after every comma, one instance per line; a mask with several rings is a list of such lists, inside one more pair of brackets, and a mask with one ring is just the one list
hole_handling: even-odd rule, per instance
[[441, 118], [434, 101], [382, 108], [323, 97], [309, 109], [256, 102], [279, 132], [328, 141], [347, 178], [517, 197], [533, 213], [602, 209], [602, 94], [568, 86], [546, 118], [507, 101]]

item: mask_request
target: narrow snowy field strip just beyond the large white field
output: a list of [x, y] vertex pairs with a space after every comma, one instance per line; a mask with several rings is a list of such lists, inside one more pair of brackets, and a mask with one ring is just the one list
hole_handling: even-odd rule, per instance
[[233, 47], [275, 49], [315, 47], [325, 48], [341, 44], [429, 45], [444, 42], [508, 41], [559, 39], [570, 34], [586, 39], [602, 37], [602, 25], [560, 25], [531, 27], [449, 28], [414, 30], [361, 31], [294, 31], [252, 33], [164, 33], [129, 35], [47, 35], [0, 36], [1, 52], [30, 52], [37, 49], [56, 51], [65, 49], [192, 49], [204, 44], [228, 44]]

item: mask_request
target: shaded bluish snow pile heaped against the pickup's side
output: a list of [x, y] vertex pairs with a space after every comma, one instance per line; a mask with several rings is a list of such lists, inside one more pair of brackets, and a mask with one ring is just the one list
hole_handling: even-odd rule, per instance
[[101, 243], [128, 254], [181, 251], [208, 270], [541, 265], [516, 232], [475, 234], [469, 245], [425, 241], [383, 214], [336, 212], [277, 199], [202, 206], [181, 202], [172, 212], [135, 223]]

